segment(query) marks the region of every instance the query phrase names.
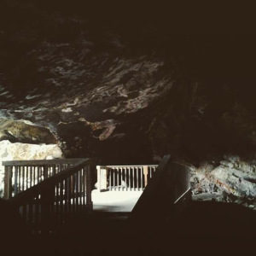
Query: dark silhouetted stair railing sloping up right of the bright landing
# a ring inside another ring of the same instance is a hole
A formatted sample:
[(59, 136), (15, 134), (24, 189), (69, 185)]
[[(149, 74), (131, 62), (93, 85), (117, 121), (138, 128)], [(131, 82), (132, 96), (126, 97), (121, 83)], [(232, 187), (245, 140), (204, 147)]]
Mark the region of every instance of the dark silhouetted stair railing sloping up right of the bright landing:
[(172, 162), (166, 155), (132, 209), (130, 220), (146, 226), (158, 225), (181, 211), (191, 200), (189, 179), (189, 167)]

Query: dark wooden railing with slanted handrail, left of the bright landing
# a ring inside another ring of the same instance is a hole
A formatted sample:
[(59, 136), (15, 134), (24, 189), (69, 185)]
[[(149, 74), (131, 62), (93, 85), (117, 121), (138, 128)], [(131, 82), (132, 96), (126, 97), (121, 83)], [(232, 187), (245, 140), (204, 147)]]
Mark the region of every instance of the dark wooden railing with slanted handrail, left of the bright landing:
[(5, 161), (3, 166), (5, 199), (34, 230), (54, 230), (74, 212), (92, 210), (95, 166), (89, 159)]

